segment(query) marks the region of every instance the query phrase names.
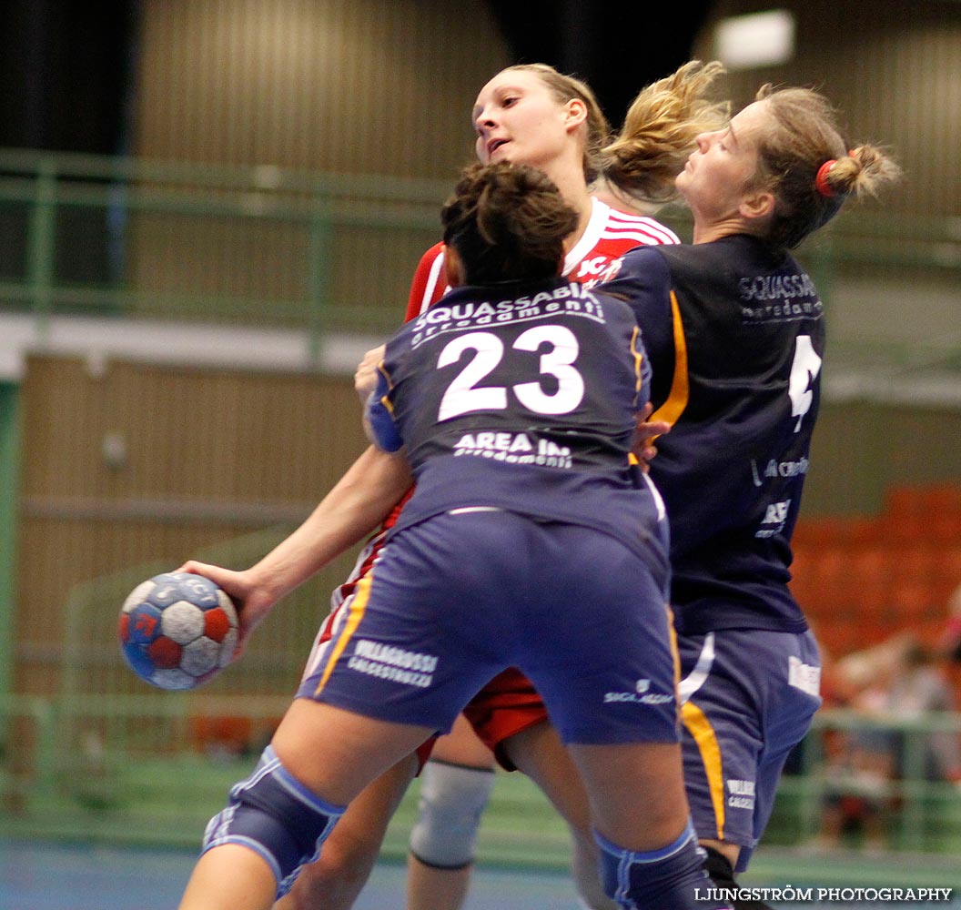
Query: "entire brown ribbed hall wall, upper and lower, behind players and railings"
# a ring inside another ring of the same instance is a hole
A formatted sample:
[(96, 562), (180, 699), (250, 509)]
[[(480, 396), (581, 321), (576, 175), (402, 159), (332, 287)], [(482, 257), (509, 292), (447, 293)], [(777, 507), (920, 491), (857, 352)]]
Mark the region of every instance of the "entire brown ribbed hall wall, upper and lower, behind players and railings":
[[(732, 93), (747, 100), (767, 80), (824, 86), (849, 114), (851, 132), (889, 142), (908, 174), (903, 190), (865, 209), (866, 218), (957, 217), (961, 4), (930, 0), (908, 9), (880, 0), (870, 18), (825, 0), (787, 6), (803, 37), (796, 59), (760, 77), (732, 74)], [(762, 8), (725, 0), (715, 12)], [(509, 61), (479, 2), (458, 4), (451, 15), (443, 0), (145, 0), (140, 30), (132, 151), (255, 168), (265, 187), (288, 168), (450, 180), (472, 153), (470, 102)], [(703, 58), (712, 56), (708, 32), (696, 48)], [(328, 42), (319, 51), (318, 36)], [(426, 60), (430, 67), (421, 65)], [(251, 205), (259, 205), (256, 193)], [(255, 298), (283, 298), (293, 263), (308, 252), (283, 232), (225, 223), (218, 230), (233, 239), (219, 248), (230, 252), (212, 257), (203, 243), (209, 223), (132, 217), (130, 268), (145, 289), (249, 281)], [(331, 263), (334, 294), (358, 305), (373, 297), (399, 314), (421, 248), (361, 230), (345, 239), (350, 257)], [(956, 332), (952, 249), (940, 268), (856, 261), (834, 268), (831, 328), (881, 339), (938, 326)], [(264, 307), (259, 321), (271, 319)], [(832, 341), (825, 377), (844, 366), (841, 355), (830, 359), (837, 350)], [(825, 402), (805, 519), (881, 515), (892, 487), (961, 482), (954, 442), (961, 409), (901, 393), (895, 401), (879, 387)], [(38, 356), (27, 363), (20, 399), (12, 682), (22, 692), (61, 685), (63, 609), (76, 585), (208, 552), (247, 564), (274, 539), (256, 535), (281, 533), (306, 516), (361, 446), (343, 377)], [(348, 557), (323, 573), (289, 620), (286, 612), (272, 618), (261, 633), (248, 665), (274, 674), (275, 691), (287, 691), (349, 564)], [(111, 597), (99, 602), (105, 628), (118, 607)], [(105, 647), (114, 658), (112, 641)], [(235, 680), (227, 674), (216, 684)]]

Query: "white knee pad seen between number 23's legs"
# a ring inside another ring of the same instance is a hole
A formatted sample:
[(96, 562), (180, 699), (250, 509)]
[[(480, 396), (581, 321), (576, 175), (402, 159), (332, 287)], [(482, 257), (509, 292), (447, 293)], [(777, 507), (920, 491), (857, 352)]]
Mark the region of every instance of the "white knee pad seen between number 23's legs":
[(480, 816), (490, 799), (494, 772), (429, 761), (421, 774), (417, 824), (410, 851), (425, 866), (462, 869), (474, 862)]

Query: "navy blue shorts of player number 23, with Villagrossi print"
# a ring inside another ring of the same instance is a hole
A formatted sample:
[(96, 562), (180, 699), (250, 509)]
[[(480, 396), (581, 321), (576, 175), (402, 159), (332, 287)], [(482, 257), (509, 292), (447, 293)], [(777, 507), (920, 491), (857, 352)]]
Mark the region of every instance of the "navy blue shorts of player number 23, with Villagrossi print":
[(297, 694), (446, 731), (519, 667), (564, 742), (678, 742), (665, 604), (645, 561), (600, 531), (456, 509), (388, 541)]

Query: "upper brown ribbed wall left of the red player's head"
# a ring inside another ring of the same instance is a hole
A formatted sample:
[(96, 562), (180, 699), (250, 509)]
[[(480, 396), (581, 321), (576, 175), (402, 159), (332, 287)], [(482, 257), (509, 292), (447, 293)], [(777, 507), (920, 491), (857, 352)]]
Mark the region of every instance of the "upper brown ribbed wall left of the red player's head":
[[(218, 318), (303, 326), (320, 299), (336, 328), (396, 325), (446, 189), (419, 228), (334, 224), (322, 250), (307, 219), (259, 217), (259, 205), (270, 205), (277, 168), (453, 184), (474, 155), (474, 98), (506, 62), (480, 0), (456, 14), (443, 0), (148, 0), (134, 154), (250, 166), (264, 199), (247, 193), (251, 211), (224, 218), (134, 212), (127, 278), (146, 294), (134, 307), (150, 312), (155, 294), (201, 296), (185, 318), (217, 307)], [(303, 194), (280, 199), (306, 209)], [(209, 192), (196, 201), (209, 205)]]

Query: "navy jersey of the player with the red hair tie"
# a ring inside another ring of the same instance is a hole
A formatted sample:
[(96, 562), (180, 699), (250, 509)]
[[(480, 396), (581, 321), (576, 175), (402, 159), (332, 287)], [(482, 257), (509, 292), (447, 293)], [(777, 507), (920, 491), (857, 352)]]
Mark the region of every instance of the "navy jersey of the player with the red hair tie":
[(629, 252), (604, 290), (628, 296), (670, 422), (651, 475), (671, 524), (682, 634), (802, 631), (791, 533), (818, 412), (824, 312), (797, 261), (756, 238)]

